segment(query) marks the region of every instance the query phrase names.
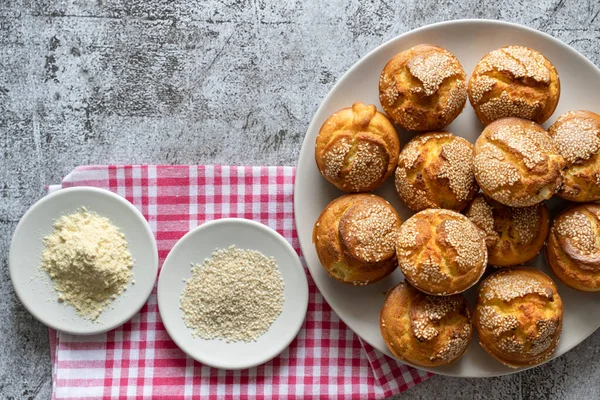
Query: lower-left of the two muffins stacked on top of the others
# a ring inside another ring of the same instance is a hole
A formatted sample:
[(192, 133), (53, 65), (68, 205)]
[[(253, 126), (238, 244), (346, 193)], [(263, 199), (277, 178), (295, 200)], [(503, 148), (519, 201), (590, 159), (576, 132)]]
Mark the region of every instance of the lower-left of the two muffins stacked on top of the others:
[(424, 210), (407, 219), (398, 232), (396, 254), (411, 285), (441, 296), (473, 286), (487, 265), (483, 233), (450, 210)]

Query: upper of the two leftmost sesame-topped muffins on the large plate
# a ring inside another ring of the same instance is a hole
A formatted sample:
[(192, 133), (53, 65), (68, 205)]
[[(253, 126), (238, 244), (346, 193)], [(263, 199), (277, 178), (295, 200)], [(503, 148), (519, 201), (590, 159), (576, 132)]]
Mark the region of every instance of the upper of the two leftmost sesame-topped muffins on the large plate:
[(354, 103), (325, 121), (317, 136), (315, 160), (321, 175), (345, 192), (379, 187), (396, 168), (396, 128), (374, 105)]

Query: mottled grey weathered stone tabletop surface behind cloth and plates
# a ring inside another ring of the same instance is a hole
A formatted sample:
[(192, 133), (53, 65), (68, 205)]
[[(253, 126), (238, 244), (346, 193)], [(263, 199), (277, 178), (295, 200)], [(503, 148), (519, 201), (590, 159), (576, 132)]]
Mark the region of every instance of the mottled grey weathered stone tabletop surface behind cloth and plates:
[[(598, 0), (0, 0), (0, 398), (50, 397), (47, 330), (7, 267), (45, 184), (81, 164), (295, 164), (336, 79), (398, 34), (503, 19), (600, 65), (599, 14)], [(599, 353), (597, 332), (534, 370), (405, 397), (598, 398)]]

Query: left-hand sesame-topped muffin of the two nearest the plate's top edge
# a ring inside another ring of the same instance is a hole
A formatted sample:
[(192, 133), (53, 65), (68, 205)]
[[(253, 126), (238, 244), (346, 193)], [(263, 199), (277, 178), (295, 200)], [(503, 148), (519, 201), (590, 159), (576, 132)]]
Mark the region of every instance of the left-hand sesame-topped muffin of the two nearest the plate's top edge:
[(448, 50), (420, 44), (385, 65), (379, 78), (379, 101), (401, 128), (442, 129), (458, 117), (467, 101), (465, 72)]

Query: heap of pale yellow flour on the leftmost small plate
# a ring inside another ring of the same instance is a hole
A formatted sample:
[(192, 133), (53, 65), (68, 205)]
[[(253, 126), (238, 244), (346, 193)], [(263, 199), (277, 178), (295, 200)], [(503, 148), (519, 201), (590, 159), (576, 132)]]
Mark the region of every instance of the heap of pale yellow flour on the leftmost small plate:
[(44, 246), (40, 268), (50, 275), (58, 301), (84, 318), (96, 320), (132, 281), (125, 235), (85, 208), (59, 218)]

